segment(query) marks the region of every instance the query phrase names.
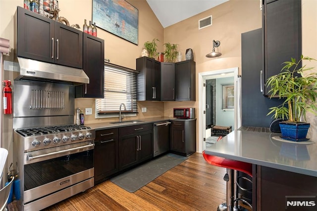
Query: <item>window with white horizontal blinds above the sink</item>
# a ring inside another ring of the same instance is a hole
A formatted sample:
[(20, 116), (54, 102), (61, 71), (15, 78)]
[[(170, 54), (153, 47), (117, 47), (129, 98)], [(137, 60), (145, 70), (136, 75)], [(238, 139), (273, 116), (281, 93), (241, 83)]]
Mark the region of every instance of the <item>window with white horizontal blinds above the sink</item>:
[[(96, 99), (98, 115), (117, 114), (124, 103), (122, 113), (137, 113), (137, 71), (105, 63), (105, 98)], [(112, 115), (113, 116), (113, 115)]]

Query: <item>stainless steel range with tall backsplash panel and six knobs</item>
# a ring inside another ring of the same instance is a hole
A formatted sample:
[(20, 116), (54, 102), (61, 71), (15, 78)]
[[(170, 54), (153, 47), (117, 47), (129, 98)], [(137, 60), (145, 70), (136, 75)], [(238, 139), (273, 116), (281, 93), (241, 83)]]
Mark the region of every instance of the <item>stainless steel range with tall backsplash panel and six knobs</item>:
[(42, 210), (94, 186), (95, 130), (74, 122), (74, 87), (14, 81), (21, 208)]

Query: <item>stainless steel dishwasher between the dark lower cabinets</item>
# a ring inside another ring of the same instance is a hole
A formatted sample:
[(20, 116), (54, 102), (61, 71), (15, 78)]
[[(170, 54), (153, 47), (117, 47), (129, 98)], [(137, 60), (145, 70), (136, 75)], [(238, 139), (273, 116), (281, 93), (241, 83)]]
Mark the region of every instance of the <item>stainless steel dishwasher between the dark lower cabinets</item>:
[(154, 123), (154, 144), (153, 152), (156, 157), (169, 151), (169, 121)]

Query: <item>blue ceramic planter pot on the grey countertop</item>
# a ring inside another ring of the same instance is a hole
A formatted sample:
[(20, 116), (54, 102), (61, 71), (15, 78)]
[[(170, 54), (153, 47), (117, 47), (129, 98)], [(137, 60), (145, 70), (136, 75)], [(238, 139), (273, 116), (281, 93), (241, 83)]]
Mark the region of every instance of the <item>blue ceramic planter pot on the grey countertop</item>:
[(310, 123), (306, 122), (287, 122), (282, 121), (279, 123), (282, 133), (282, 139), (289, 140), (289, 141), (307, 141), (306, 138), (307, 132), (309, 127), (311, 126)]

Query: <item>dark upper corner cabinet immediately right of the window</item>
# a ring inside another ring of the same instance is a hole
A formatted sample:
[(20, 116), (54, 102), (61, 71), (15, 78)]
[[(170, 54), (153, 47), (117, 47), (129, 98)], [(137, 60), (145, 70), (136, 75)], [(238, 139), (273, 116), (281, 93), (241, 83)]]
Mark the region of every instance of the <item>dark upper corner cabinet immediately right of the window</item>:
[(160, 101), (160, 62), (143, 56), (136, 59), (138, 101)]

